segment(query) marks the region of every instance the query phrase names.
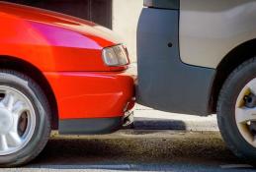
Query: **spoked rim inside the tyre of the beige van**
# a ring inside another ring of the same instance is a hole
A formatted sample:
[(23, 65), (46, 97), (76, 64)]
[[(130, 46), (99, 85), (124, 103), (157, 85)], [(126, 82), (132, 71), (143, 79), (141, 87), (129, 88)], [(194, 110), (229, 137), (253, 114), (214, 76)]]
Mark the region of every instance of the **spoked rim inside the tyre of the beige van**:
[[(244, 140), (256, 147), (256, 105), (247, 105), (256, 95), (256, 79), (250, 81), (239, 93), (235, 104), (235, 121)], [(249, 99), (250, 98), (250, 99)]]

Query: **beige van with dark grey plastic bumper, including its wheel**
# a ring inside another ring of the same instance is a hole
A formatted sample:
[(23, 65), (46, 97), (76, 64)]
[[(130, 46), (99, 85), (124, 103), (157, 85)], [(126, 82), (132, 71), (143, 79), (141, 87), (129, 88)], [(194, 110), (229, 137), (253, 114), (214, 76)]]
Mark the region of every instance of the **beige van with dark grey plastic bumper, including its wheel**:
[(256, 1), (144, 0), (137, 29), (137, 101), (217, 114), (223, 140), (256, 159)]

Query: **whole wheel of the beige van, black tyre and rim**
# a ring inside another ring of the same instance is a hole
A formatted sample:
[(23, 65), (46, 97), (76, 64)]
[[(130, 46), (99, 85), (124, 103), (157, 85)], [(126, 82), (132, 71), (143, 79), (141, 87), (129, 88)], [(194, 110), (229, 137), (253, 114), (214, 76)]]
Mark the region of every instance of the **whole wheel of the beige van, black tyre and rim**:
[(253, 91), (247, 86), (255, 86), (253, 85), (255, 78), (256, 59), (252, 58), (229, 75), (220, 90), (216, 109), (217, 123), (224, 142), (236, 156), (253, 165), (256, 160), (256, 146), (249, 139), (256, 134), (252, 130), (255, 129), (256, 124), (253, 121), (246, 121), (247, 113), (243, 112), (245, 112), (244, 109), (253, 108), (256, 105), (254, 103), (251, 106), (247, 100)]

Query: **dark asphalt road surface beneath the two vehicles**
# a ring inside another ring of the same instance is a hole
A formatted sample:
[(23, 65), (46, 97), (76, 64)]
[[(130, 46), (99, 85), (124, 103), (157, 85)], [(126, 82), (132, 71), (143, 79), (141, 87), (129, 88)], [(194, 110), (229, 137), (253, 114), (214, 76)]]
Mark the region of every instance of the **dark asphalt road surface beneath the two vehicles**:
[(54, 136), (29, 165), (0, 172), (255, 171), (217, 132), (122, 131), (91, 137)]

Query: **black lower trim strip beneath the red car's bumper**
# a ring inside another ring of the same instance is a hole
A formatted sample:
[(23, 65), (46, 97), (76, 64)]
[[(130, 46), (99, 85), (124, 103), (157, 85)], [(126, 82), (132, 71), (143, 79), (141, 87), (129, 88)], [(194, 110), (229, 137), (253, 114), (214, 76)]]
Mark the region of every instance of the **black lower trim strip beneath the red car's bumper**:
[(89, 118), (59, 120), (61, 135), (101, 135), (110, 134), (123, 125), (123, 118)]

